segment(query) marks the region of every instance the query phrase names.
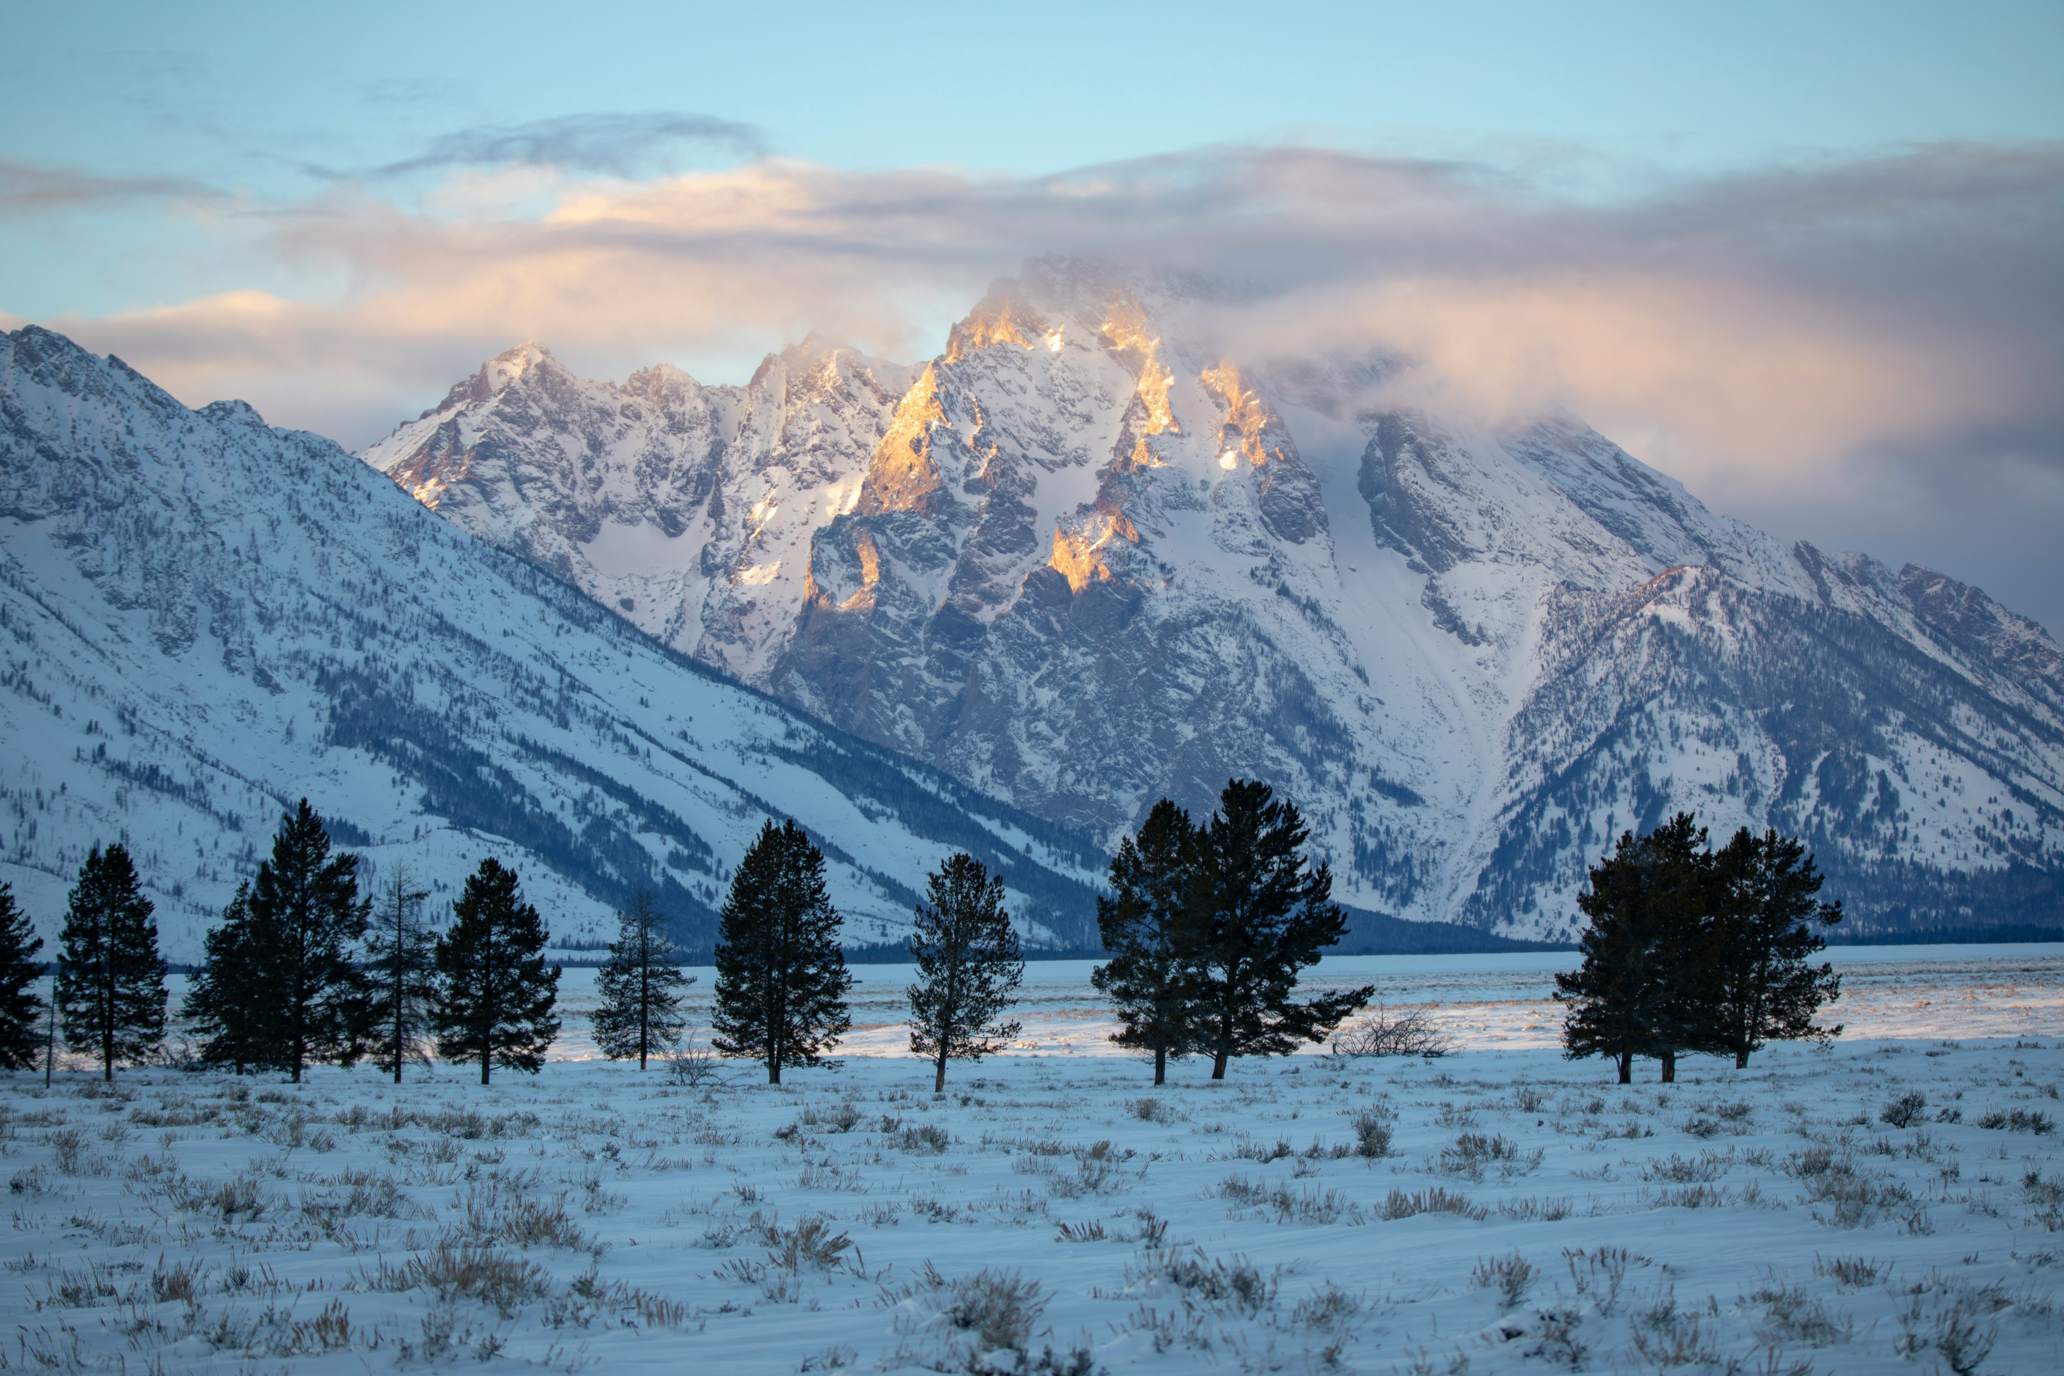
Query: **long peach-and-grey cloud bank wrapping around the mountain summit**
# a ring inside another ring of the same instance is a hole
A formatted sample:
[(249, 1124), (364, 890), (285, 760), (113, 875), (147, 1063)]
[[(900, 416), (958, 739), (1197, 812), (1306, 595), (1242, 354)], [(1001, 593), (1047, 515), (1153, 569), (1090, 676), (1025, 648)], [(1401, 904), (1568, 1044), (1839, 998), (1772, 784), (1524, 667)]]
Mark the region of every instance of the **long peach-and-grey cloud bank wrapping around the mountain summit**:
[[(2064, 474), (2058, 144), (1915, 146), (1606, 200), (1488, 163), (1298, 146), (1049, 177), (760, 157), (632, 179), (640, 138), (691, 134), (623, 120), (456, 134), (413, 163), (450, 169), (417, 206), (361, 182), (221, 219), (256, 235), (275, 281), (345, 289), (47, 324), (182, 398), (241, 392), (363, 444), (522, 338), (607, 375), (757, 357), (807, 330), (925, 357), (993, 276), (1061, 252), (1222, 283), (1191, 324), (1247, 357), (1383, 349), (1443, 406), (1567, 406), (1779, 526), (1787, 493), (1839, 516), (1841, 491), (1878, 483), (1874, 528), (1897, 545), (1930, 493), (2052, 501)], [(615, 177), (576, 175), (592, 171)], [(1977, 470), (1992, 477), (1963, 481)], [(1905, 493), (1907, 526), (1884, 493)]]

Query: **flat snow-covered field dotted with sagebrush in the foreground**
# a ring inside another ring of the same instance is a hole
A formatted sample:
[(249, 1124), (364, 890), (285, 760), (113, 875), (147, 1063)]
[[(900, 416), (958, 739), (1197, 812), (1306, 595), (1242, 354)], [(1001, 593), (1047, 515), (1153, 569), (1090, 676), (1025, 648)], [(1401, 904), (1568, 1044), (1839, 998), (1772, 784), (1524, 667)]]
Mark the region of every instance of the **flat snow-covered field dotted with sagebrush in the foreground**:
[[(894, 968), (859, 972), (863, 1054), (780, 1087), (677, 1085), (580, 1058), (584, 1036), (487, 1089), (462, 1067), (14, 1075), (0, 1359), (2064, 1368), (2064, 951), (1835, 957), (1839, 1044), (1695, 1058), (1678, 1085), (1556, 1054), (1554, 953), (1327, 961), (1439, 1001), (1459, 1050), (1222, 1085), (1187, 1062), (1152, 1089), (1065, 965), (1028, 972), (1030, 1046), (956, 1064), (939, 1100), (894, 1054)], [(590, 984), (568, 972), (568, 1007)]]

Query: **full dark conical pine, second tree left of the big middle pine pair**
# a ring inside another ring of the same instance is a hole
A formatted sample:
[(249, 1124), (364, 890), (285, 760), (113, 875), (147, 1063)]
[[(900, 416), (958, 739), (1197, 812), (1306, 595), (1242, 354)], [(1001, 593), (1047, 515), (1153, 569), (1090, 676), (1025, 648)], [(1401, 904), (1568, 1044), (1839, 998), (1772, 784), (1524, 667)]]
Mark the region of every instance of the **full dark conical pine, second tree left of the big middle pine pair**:
[(852, 1027), (848, 988), (824, 854), (793, 819), (768, 821), (718, 914), (710, 1044), (764, 1062), (768, 1083), (778, 1085), (784, 1064), (817, 1064)]

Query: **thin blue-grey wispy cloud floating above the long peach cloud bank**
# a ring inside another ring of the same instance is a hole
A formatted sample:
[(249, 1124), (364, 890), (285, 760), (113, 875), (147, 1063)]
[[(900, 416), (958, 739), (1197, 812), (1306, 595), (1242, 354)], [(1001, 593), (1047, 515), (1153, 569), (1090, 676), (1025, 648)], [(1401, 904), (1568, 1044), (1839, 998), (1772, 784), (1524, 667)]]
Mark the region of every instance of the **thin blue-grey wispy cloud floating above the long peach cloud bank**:
[(452, 167), (555, 167), (574, 173), (636, 177), (665, 165), (683, 144), (735, 157), (760, 157), (766, 140), (749, 124), (665, 109), (578, 113), (510, 126), (477, 126), (440, 136), (423, 153), (376, 169), (376, 177)]

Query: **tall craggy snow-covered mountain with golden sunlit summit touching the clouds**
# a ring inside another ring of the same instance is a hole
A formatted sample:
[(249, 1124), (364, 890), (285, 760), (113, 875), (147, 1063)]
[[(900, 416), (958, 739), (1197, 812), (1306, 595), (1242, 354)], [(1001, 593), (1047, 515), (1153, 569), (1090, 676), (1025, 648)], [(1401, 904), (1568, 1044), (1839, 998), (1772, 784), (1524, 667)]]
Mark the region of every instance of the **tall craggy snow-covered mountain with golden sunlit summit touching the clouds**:
[(1069, 827), (1228, 776), (1344, 902), (1558, 935), (1622, 827), (1812, 840), (1872, 924), (2058, 918), (2064, 658), (1940, 574), (1783, 547), (1571, 417), (1240, 361), (1191, 285), (1028, 264), (904, 369), (489, 361), (363, 458), (654, 637)]

